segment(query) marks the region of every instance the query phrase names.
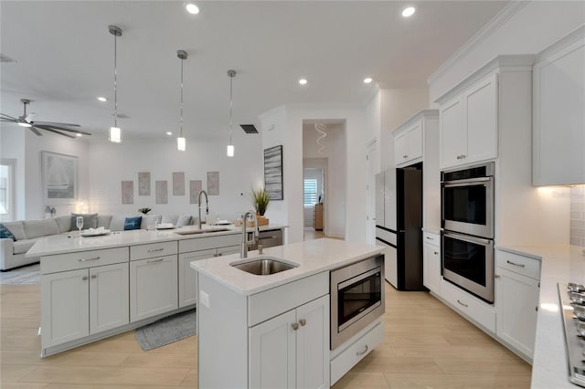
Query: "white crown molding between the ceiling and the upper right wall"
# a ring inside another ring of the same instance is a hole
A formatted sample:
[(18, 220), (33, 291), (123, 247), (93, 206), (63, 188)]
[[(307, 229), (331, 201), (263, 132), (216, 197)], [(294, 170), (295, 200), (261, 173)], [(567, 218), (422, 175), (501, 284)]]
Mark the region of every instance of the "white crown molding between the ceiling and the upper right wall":
[(496, 16), (487, 24), (485, 24), (478, 32), (476, 32), (473, 37), (471, 37), (462, 47), (459, 47), (457, 51), (453, 53), (450, 58), (447, 58), (443, 64), (437, 68), (431, 76), (427, 78), (427, 85), (431, 85), (435, 79), (441, 77), (443, 73), (449, 68), (452, 67), (453, 63), (455, 63), (459, 58), (462, 58), (465, 54), (479, 45), (486, 37), (491, 36), (498, 28), (503, 26), (505, 22), (507, 22), (512, 16), (516, 15), (518, 11), (524, 8), (531, 0), (522, 0), (522, 1), (511, 1), (504, 8), (498, 12)]

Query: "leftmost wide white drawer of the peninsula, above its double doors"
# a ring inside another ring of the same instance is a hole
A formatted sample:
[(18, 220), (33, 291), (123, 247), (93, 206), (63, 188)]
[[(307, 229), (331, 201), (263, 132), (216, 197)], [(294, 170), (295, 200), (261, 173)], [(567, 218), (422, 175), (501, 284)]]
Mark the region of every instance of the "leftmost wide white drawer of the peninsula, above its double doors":
[(41, 257), (40, 271), (41, 274), (49, 274), (77, 268), (112, 265), (126, 261), (128, 261), (128, 247), (104, 248)]

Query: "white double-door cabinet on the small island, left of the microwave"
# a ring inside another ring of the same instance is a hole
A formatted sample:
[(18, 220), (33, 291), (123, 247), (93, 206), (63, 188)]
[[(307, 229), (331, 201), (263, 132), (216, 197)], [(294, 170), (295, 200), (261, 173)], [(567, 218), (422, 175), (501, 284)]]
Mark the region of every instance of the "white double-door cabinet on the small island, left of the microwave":
[(250, 328), (250, 387), (329, 387), (329, 296)]

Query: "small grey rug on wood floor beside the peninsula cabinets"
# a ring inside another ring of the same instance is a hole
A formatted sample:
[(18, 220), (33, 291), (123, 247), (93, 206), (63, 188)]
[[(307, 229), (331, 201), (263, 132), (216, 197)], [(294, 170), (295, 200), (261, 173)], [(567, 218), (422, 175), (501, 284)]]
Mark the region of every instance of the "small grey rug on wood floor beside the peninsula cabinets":
[(145, 352), (197, 333), (196, 312), (186, 310), (136, 329), (136, 341)]

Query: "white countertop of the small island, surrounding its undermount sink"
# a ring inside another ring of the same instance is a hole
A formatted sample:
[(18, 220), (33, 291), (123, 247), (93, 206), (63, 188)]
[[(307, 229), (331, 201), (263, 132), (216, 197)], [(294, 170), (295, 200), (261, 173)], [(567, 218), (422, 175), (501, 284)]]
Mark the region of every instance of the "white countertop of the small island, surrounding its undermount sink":
[(246, 259), (239, 258), (239, 254), (234, 254), (226, 257), (193, 261), (191, 262), (191, 268), (195, 268), (239, 294), (248, 296), (322, 271), (342, 268), (359, 259), (374, 257), (383, 253), (384, 247), (382, 246), (322, 238), (265, 248), (262, 256), (275, 257), (283, 259), (285, 262), (293, 262), (299, 265), (298, 268), (292, 268), (270, 276), (257, 276), (229, 265), (232, 262), (253, 260), (259, 257), (258, 251), (250, 251)]

